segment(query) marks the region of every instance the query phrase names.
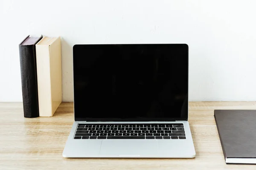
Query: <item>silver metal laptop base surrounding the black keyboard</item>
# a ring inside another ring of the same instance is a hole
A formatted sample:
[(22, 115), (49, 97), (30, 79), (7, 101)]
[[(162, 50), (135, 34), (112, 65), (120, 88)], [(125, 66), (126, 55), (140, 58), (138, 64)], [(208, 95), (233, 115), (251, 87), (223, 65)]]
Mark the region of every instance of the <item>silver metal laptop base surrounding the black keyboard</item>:
[[(186, 139), (73, 139), (79, 123), (93, 124), (167, 124), (183, 123)], [(74, 122), (63, 157), (68, 158), (194, 158), (189, 123), (176, 122)]]

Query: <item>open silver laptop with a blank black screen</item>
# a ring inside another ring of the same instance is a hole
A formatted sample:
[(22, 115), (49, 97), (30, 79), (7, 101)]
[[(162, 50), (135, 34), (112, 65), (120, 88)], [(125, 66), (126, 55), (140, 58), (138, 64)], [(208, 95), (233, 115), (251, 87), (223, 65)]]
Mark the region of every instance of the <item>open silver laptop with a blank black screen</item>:
[(63, 157), (194, 158), (188, 45), (74, 45), (74, 118)]

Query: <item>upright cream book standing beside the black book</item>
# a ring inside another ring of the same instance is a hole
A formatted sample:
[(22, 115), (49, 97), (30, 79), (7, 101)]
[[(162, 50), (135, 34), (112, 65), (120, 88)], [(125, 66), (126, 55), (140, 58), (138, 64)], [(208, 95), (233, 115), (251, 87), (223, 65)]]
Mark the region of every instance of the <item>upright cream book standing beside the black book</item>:
[(53, 116), (62, 101), (61, 39), (43, 37), (36, 45), (39, 116)]

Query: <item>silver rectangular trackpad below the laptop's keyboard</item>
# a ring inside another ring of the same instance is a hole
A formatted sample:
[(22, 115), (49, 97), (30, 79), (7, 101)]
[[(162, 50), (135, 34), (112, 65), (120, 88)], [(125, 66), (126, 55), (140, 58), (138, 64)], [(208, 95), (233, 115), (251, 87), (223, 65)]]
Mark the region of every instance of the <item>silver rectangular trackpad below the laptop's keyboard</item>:
[(157, 155), (157, 140), (103, 140), (100, 155), (148, 156)]

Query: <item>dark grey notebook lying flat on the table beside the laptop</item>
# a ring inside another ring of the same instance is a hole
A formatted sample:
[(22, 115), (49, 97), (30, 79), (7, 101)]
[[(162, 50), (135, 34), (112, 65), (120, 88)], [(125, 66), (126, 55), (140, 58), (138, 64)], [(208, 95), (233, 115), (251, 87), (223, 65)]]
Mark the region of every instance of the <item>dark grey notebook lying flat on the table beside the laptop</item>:
[(256, 110), (215, 110), (227, 164), (256, 164)]

